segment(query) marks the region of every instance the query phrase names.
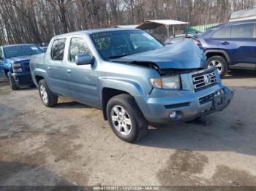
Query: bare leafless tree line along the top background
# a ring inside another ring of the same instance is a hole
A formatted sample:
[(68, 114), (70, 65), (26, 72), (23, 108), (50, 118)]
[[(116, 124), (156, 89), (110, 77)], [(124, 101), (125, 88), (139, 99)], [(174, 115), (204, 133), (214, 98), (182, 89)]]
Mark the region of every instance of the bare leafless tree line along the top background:
[(49, 42), (90, 28), (140, 24), (148, 19), (222, 23), (255, 0), (0, 0), (0, 44)]

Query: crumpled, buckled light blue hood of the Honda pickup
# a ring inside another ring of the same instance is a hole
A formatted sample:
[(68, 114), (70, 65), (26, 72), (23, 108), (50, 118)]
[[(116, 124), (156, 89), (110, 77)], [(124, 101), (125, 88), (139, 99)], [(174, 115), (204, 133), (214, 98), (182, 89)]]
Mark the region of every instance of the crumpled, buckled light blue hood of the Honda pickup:
[(159, 69), (206, 68), (206, 56), (191, 40), (170, 44), (157, 50), (127, 55), (112, 61), (121, 63), (155, 63)]

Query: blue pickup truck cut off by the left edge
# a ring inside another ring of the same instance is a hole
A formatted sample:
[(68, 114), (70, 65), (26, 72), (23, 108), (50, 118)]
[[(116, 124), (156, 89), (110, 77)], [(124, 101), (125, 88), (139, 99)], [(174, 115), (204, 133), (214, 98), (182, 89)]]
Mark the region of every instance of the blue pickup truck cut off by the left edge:
[(14, 44), (0, 47), (0, 77), (8, 79), (12, 90), (34, 85), (29, 61), (31, 55), (42, 53), (34, 44)]

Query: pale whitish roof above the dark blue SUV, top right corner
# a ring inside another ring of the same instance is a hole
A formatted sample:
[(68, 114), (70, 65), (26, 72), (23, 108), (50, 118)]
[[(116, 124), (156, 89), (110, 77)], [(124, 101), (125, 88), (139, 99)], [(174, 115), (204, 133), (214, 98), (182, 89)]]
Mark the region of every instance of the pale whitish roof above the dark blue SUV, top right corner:
[(256, 9), (241, 10), (233, 12), (230, 15), (229, 22), (238, 21), (238, 20), (252, 20), (256, 19)]

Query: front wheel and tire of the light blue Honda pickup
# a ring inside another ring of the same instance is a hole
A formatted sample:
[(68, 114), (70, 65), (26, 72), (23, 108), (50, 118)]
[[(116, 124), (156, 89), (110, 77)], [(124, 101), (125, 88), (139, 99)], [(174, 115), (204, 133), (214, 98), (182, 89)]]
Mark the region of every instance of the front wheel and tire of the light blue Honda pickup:
[[(119, 114), (116, 109), (118, 109)], [(120, 116), (122, 111), (124, 111), (123, 119)], [(107, 116), (113, 132), (123, 141), (129, 143), (138, 141), (148, 132), (148, 122), (131, 95), (120, 94), (110, 98), (107, 104)], [(118, 116), (120, 117), (118, 118)], [(123, 125), (123, 127), (118, 130), (118, 125)], [(129, 133), (125, 129), (128, 129)]]

